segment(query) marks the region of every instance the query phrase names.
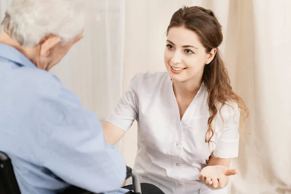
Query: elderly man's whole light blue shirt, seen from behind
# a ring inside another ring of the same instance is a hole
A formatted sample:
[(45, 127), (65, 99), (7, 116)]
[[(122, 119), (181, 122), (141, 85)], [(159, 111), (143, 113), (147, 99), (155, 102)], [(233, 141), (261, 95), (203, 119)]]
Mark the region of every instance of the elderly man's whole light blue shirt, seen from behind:
[(69, 184), (101, 193), (119, 188), (126, 168), (105, 143), (98, 119), (74, 93), (16, 49), (0, 44), (0, 150), (23, 194)]

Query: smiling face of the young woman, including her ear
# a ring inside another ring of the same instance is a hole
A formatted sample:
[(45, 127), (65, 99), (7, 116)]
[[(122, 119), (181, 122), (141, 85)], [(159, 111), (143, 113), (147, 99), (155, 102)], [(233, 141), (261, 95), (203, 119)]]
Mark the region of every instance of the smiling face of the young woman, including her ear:
[(215, 52), (212, 49), (207, 53), (195, 32), (173, 27), (167, 34), (164, 63), (172, 81), (201, 81), (204, 65), (211, 62)]

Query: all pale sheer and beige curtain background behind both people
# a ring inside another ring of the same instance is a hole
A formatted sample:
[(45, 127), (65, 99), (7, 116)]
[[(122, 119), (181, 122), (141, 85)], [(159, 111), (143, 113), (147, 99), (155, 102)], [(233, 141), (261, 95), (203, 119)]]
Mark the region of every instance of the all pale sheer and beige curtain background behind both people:
[[(165, 32), (183, 5), (212, 9), (231, 84), (246, 102), (229, 194), (291, 194), (291, 0), (92, 0), (84, 38), (52, 69), (103, 122), (138, 71), (165, 71)], [(0, 0), (0, 19), (6, 0)], [(134, 123), (116, 145), (129, 166)]]

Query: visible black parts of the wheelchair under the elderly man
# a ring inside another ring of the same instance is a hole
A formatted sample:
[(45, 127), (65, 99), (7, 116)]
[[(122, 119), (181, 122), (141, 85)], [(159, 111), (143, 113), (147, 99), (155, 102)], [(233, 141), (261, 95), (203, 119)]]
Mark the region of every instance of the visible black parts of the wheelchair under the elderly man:
[[(142, 194), (141, 184), (138, 174), (128, 166), (126, 179), (132, 177), (133, 192), (129, 191), (126, 194)], [(14, 174), (13, 166), (9, 157), (0, 151), (0, 194), (21, 194), (16, 177)], [(90, 191), (70, 186), (65, 191), (59, 194), (92, 194)]]

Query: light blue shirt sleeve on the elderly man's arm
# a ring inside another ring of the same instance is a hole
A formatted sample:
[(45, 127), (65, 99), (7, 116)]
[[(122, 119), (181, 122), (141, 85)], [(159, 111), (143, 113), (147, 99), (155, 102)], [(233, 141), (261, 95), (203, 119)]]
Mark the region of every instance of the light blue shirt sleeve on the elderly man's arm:
[(126, 164), (118, 149), (105, 142), (96, 115), (82, 108), (63, 85), (50, 86), (46, 93), (36, 94), (35, 102), (37, 138), (44, 141), (42, 165), (65, 182), (94, 193), (120, 188)]

